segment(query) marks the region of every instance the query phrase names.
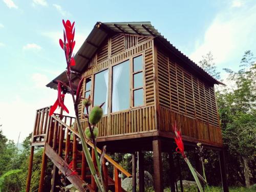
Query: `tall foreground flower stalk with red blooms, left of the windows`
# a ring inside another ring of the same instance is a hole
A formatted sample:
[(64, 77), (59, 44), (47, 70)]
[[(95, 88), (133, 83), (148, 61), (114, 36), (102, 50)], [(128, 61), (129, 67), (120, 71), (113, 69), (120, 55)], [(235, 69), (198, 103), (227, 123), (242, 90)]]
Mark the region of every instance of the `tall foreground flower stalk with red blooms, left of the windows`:
[[(91, 123), (89, 122), (88, 106), (86, 108), (87, 113), (88, 113), (88, 116), (87, 116), (88, 117), (88, 124), (89, 124), (89, 128), (90, 128), (90, 133), (92, 135), (92, 142), (93, 142), (93, 145), (94, 145), (95, 159), (96, 159), (96, 162), (97, 162), (97, 169), (98, 169), (98, 172), (99, 172), (99, 175), (100, 175), (100, 179), (97, 175), (97, 170), (94, 166), (91, 154), (89, 152), (88, 145), (87, 145), (87, 142), (86, 142), (86, 136), (83, 133), (81, 123), (80, 123), (80, 120), (79, 120), (79, 115), (78, 115), (78, 104), (81, 101), (81, 87), (82, 87), (84, 78), (80, 79), (80, 82), (79, 82), (77, 90), (76, 90), (76, 95), (75, 95), (75, 91), (73, 89), (73, 83), (72, 83), (72, 80), (71, 80), (71, 74), (72, 74), (71, 66), (75, 66), (75, 59), (74, 59), (74, 54), (73, 54), (73, 49), (74, 49), (74, 46), (75, 46), (75, 41), (74, 41), (75, 29), (73, 30), (73, 28), (74, 28), (75, 23), (71, 24), (70, 20), (67, 20), (66, 22), (64, 20), (62, 20), (62, 23), (63, 23), (63, 26), (65, 27), (65, 30), (63, 31), (63, 40), (59, 39), (59, 45), (60, 45), (61, 49), (65, 52), (65, 57), (66, 57), (66, 62), (67, 62), (67, 71), (66, 71), (66, 73), (67, 73), (67, 78), (68, 78), (68, 86), (65, 83), (61, 82), (61, 81), (58, 82), (58, 97), (57, 97), (56, 102), (52, 106), (49, 115), (51, 116), (54, 113), (57, 106), (60, 106), (63, 110), (65, 110), (66, 112), (69, 112), (68, 109), (66, 108), (66, 106), (63, 103), (65, 95), (61, 94), (61, 88), (63, 86), (68, 87), (69, 90), (70, 90), (72, 99), (73, 99), (73, 103), (74, 103), (76, 124), (77, 124), (77, 127), (78, 127), (78, 133), (79, 133), (79, 136), (80, 136), (80, 139), (81, 139), (83, 153), (86, 156), (88, 166), (90, 168), (92, 176), (94, 177), (94, 180), (95, 180), (95, 183), (98, 187), (98, 190), (100, 192), (105, 192), (106, 187), (103, 183), (104, 178), (103, 178), (103, 174), (101, 172), (101, 165), (100, 165), (98, 152), (97, 152), (97, 143), (96, 143), (96, 139), (95, 139), (94, 134), (93, 134), (94, 125), (92, 126)], [(102, 105), (103, 104), (104, 103), (102, 103)], [(104, 153), (102, 155), (104, 156)], [(101, 157), (101, 158), (103, 158), (103, 157)]]

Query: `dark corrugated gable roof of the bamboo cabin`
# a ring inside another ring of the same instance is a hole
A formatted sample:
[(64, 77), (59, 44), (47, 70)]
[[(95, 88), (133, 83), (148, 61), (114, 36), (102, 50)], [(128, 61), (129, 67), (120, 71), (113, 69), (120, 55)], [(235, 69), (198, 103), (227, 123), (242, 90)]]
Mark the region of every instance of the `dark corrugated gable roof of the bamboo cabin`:
[[(193, 69), (198, 75), (202, 76), (203, 79), (206, 79), (212, 84), (223, 84), (214, 77), (210, 76), (202, 68), (200, 68), (194, 61), (190, 60), (186, 55), (181, 53), (176, 47), (174, 47), (170, 42), (164, 38), (164, 36), (159, 33), (150, 22), (118, 22), (118, 23), (101, 23), (97, 22), (88, 35), (87, 39), (84, 40), (82, 46), (75, 54), (76, 66), (72, 66), (72, 71), (75, 73), (72, 74), (72, 80), (75, 87), (78, 84), (79, 78), (77, 78), (81, 73), (84, 72), (91, 58), (97, 52), (98, 48), (108, 36), (123, 33), (123, 34), (134, 34), (154, 37), (154, 40), (157, 43), (161, 44), (172, 54), (182, 59), (186, 63), (187, 67)], [(62, 72), (59, 76), (53, 79), (47, 84), (47, 87), (56, 89), (57, 81), (68, 82), (66, 71)]]

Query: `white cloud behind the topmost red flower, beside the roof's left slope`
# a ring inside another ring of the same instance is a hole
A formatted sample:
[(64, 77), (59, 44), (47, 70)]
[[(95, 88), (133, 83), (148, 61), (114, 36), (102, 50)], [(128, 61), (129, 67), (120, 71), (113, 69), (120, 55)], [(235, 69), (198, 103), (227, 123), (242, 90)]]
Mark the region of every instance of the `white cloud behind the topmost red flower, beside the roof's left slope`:
[[(77, 29), (76, 29), (75, 38), (74, 38), (76, 41), (76, 45), (74, 48), (74, 53), (76, 53), (79, 50), (79, 48), (82, 46), (88, 34), (89, 34), (89, 31), (81, 33), (81, 32), (77, 32)], [(61, 31), (43, 32), (42, 35), (50, 38), (54, 42), (54, 44), (57, 45), (58, 47), (59, 47), (59, 39), (60, 38), (63, 39), (63, 32)]]

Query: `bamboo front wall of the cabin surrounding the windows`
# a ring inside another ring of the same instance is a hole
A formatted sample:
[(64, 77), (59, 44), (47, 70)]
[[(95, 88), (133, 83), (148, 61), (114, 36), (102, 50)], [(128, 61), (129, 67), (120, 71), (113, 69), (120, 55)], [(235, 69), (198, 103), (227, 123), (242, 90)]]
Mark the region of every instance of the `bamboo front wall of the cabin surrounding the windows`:
[[(88, 68), (82, 76), (93, 77), (94, 74), (104, 69), (111, 71), (112, 66), (116, 63), (125, 61), (138, 54), (144, 56), (144, 106), (104, 115), (96, 125), (99, 128), (99, 137), (156, 130), (152, 38), (118, 34), (106, 39), (91, 59)], [(111, 102), (111, 99), (109, 101)], [(108, 108), (110, 108), (110, 102)], [(87, 120), (82, 117), (82, 112), (83, 107), (80, 103), (79, 116), (82, 126), (86, 127)]]

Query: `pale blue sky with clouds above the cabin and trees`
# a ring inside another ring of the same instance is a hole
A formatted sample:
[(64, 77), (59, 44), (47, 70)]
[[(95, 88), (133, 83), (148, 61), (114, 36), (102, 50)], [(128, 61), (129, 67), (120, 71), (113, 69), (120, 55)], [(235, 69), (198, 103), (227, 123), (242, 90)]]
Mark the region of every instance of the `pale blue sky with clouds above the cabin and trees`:
[(238, 69), (245, 50), (256, 54), (253, 0), (0, 0), (0, 124), (15, 142), (19, 132), (23, 140), (32, 131), (35, 110), (56, 99), (45, 84), (66, 67), (58, 45), (62, 18), (76, 22), (75, 51), (97, 21), (150, 21), (196, 62), (211, 51), (219, 70)]

